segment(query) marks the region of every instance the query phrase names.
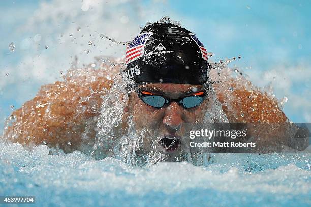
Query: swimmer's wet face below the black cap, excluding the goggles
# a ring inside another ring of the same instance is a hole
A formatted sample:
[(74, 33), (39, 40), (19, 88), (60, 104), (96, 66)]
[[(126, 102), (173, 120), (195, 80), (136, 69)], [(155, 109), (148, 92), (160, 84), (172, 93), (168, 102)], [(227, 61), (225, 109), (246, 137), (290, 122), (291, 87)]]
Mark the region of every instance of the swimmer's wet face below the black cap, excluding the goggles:
[[(139, 91), (168, 99), (179, 99), (197, 95), (203, 92), (204, 88), (202, 85), (154, 83), (139, 86)], [(205, 98), (198, 106), (184, 108), (182, 104), (172, 101), (162, 108), (155, 108), (144, 103), (137, 92), (132, 92), (127, 110), (133, 115), (136, 131), (143, 132), (144, 150), (162, 152), (168, 156), (167, 160), (176, 160), (176, 157), (189, 148), (189, 137), (185, 137), (186, 130), (183, 124), (201, 123), (207, 103), (208, 98)], [(156, 146), (151, 146), (152, 142), (157, 143)]]

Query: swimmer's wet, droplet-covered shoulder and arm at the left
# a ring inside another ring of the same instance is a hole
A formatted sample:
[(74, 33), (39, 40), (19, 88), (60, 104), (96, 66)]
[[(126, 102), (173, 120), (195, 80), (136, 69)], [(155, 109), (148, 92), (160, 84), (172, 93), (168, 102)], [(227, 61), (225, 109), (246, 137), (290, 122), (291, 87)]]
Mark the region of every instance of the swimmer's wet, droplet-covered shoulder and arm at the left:
[(92, 145), (106, 78), (83, 84), (55, 82), (42, 86), (39, 93), (14, 111), (2, 139), (24, 146), (46, 144), (65, 152)]

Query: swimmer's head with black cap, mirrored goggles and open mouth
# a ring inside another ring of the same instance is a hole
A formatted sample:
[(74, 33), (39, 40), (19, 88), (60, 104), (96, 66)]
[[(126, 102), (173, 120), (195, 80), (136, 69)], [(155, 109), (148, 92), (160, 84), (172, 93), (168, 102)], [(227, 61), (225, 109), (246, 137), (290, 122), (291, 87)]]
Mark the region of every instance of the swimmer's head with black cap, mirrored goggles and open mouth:
[(182, 125), (203, 122), (209, 102), (207, 58), (195, 34), (168, 23), (145, 27), (128, 46), (123, 73), (134, 86), (125, 111), (133, 116), (135, 130), (145, 132), (145, 151), (175, 158), (185, 145)]

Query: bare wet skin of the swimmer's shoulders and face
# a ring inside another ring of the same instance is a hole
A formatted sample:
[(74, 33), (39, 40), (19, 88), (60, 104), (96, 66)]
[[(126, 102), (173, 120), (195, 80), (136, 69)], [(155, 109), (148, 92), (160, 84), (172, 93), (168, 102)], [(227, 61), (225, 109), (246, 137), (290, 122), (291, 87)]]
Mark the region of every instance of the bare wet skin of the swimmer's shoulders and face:
[[(6, 126), (4, 134), (0, 135), (0, 139), (5, 142), (20, 143), (27, 149), (46, 143), (49, 147), (60, 147), (66, 153), (80, 150), (87, 154), (89, 147), (94, 145), (94, 139), (98, 133), (97, 119), (101, 111), (102, 97), (105, 95), (104, 88), (109, 90), (113, 82), (102, 77), (98, 70), (90, 70), (86, 74), (87, 76), (69, 78), (63, 82), (57, 81), (41, 87), (33, 99), (25, 102), (20, 109), (13, 111), (10, 117), (14, 117), (14, 119), (8, 119), (10, 123)], [(218, 77), (216, 71), (211, 75)], [(215, 77), (211, 77), (211, 80), (216, 80)], [(258, 123), (260, 120), (261, 123), (284, 123), (287, 121), (286, 115), (281, 108), (277, 107), (277, 100), (257, 90), (246, 79), (242, 79), (242, 82), (248, 82), (245, 85), (240, 84), (241, 79), (234, 79), (226, 73), (222, 74), (222, 77), (225, 81), (214, 83), (213, 88), (229, 122)], [(182, 88), (182, 85), (176, 84), (174, 87), (172, 84), (152, 85), (155, 88), (171, 92), (187, 89), (185, 86)], [(230, 87), (234, 90), (226, 89)], [(251, 88), (253, 89), (250, 90)], [(176, 98), (179, 95), (168, 96)], [(82, 97), (91, 98), (80, 103)], [(178, 122), (201, 120), (203, 114), (209, 112), (207, 110), (212, 109), (213, 103), (215, 103), (210, 99), (207, 101), (206, 107), (202, 103), (197, 108), (183, 109), (178, 104), (171, 103), (167, 108), (155, 109), (144, 104), (136, 93), (132, 93), (130, 99), (128, 107), (125, 108), (125, 111), (128, 112), (122, 117), (123, 122), (117, 127), (119, 129), (117, 133), (120, 133), (117, 134), (117, 137), (122, 137), (127, 128), (126, 115), (133, 114), (137, 129), (154, 128), (155, 130), (159, 129), (158, 134), (161, 134), (160, 130), (162, 130), (162, 134), (169, 134), (170, 131), (176, 131), (172, 126), (178, 126)], [(38, 107), (38, 103), (41, 103), (42, 106)], [(207, 107), (208, 109), (206, 109)], [(81, 108), (84, 109), (81, 111)], [(206, 111), (203, 112), (202, 109)], [(176, 113), (177, 115), (172, 115)], [(240, 116), (242, 113), (244, 117)], [(187, 114), (188, 116), (183, 117)], [(163, 123), (168, 124), (167, 127)], [(181, 130), (178, 130), (178, 133), (181, 134)], [(271, 133), (266, 135), (266, 130), (263, 130), (262, 133), (260, 137), (271, 137)], [(155, 138), (158, 134), (155, 133)], [(148, 140), (150, 137), (147, 137)], [(181, 145), (186, 145), (186, 143), (182, 141)]]

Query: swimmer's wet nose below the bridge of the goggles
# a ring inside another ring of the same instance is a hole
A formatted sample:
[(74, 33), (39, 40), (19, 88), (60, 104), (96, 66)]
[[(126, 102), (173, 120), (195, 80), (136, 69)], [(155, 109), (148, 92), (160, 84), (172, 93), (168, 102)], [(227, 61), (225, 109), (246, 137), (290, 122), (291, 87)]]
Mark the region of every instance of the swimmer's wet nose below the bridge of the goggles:
[(182, 118), (183, 108), (175, 102), (172, 102), (165, 109), (165, 115), (163, 117), (163, 124), (173, 128), (178, 129), (179, 126), (184, 123)]

